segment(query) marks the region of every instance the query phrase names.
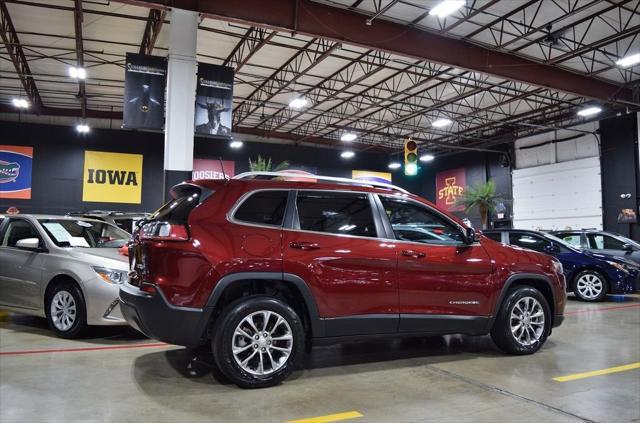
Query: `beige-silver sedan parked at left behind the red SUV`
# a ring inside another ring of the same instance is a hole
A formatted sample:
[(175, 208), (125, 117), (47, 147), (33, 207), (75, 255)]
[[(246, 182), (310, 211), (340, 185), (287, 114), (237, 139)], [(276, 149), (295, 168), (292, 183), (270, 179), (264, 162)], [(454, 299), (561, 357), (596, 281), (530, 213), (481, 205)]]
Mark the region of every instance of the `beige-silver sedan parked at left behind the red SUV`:
[(124, 325), (118, 285), (129, 234), (85, 218), (4, 216), (0, 221), (0, 308), (46, 317), (63, 338), (87, 325)]

